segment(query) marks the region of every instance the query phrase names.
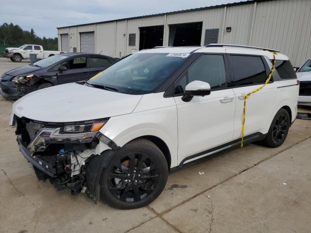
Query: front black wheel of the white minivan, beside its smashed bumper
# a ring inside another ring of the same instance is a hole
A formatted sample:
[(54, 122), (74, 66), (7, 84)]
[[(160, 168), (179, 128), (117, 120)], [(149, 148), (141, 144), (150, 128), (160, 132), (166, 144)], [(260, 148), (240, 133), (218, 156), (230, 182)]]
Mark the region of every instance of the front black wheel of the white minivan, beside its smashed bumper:
[(118, 150), (102, 171), (100, 198), (118, 209), (140, 208), (162, 193), (167, 176), (162, 151), (149, 140), (134, 140)]

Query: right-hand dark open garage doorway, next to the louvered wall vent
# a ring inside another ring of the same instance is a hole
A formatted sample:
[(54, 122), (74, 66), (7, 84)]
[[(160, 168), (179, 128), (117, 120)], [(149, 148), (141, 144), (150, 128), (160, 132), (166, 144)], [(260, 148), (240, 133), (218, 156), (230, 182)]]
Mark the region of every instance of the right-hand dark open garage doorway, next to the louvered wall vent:
[(169, 46), (201, 45), (202, 22), (170, 25)]

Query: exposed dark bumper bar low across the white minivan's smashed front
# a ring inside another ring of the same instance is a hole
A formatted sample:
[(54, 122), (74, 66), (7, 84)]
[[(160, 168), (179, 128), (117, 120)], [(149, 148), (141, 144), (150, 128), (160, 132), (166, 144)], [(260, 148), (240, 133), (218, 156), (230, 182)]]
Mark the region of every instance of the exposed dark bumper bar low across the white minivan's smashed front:
[(22, 153), (22, 155), (27, 159), (29, 163), (31, 163), (33, 166), (35, 166), (40, 171), (44, 172), (48, 176), (55, 178), (56, 177), (56, 170), (50, 166), (50, 164), (47, 164), (46, 162), (38, 159), (37, 156), (33, 156), (32, 152), (28, 150), (26, 147), (24, 147), (23, 139), (21, 138), (21, 135), (17, 136), (17, 142), (19, 146), (19, 150)]

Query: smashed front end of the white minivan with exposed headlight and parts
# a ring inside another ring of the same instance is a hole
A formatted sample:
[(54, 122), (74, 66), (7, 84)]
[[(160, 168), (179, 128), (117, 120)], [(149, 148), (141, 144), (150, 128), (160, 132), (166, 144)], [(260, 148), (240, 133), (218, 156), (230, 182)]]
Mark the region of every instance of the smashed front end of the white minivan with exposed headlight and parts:
[(38, 180), (50, 180), (56, 190), (69, 189), (76, 195), (87, 189), (90, 159), (111, 149), (100, 141), (99, 130), (107, 120), (49, 123), (14, 116), (13, 125), (19, 150), (34, 166)]

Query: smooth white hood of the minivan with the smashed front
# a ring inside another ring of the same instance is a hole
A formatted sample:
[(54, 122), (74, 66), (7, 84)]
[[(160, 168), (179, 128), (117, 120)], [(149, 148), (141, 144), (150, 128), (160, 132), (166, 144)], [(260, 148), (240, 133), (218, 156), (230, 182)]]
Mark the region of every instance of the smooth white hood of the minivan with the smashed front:
[(45, 122), (85, 121), (129, 114), (141, 97), (68, 83), (22, 97), (13, 104), (13, 112)]

